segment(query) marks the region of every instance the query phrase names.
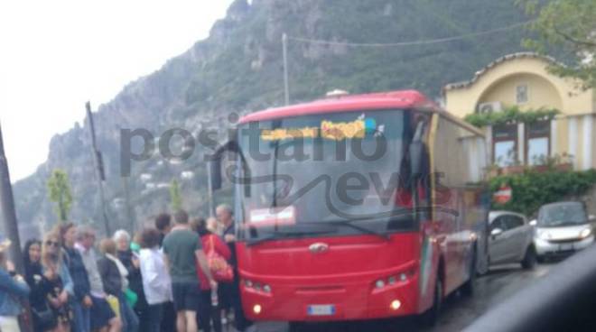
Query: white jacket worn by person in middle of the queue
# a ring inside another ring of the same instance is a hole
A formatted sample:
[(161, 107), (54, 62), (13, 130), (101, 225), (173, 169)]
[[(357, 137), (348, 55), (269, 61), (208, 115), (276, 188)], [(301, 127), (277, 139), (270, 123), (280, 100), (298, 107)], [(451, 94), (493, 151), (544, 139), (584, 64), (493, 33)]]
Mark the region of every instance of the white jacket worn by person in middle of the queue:
[(147, 303), (158, 304), (172, 300), (172, 280), (163, 261), (163, 253), (157, 247), (141, 249), (139, 261)]

